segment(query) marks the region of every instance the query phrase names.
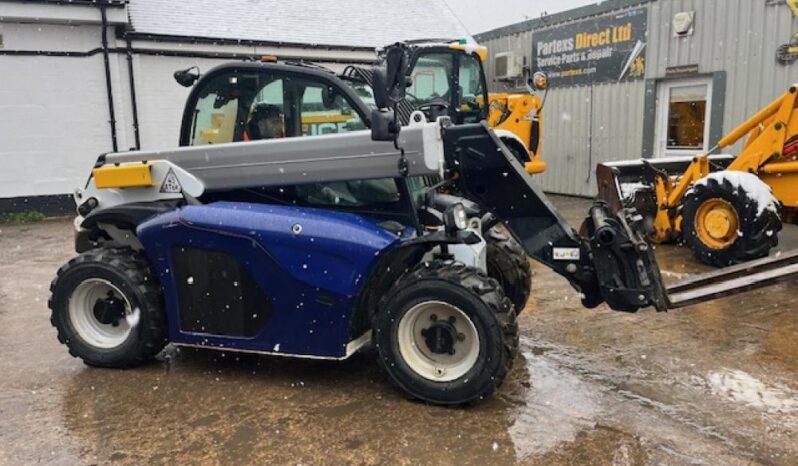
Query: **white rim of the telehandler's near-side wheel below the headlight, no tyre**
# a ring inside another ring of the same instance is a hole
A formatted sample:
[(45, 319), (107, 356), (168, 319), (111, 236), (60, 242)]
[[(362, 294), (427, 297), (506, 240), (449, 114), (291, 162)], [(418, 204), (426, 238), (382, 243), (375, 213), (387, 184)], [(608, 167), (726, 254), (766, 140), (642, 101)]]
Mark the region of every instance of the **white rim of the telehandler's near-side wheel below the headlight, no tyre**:
[[(433, 352), (424, 338), (436, 321), (449, 322), (457, 331), (454, 354)], [(479, 358), (479, 334), (468, 315), (441, 301), (425, 301), (410, 308), (399, 320), (399, 353), (413, 372), (435, 382), (451, 382), (471, 370)]]

